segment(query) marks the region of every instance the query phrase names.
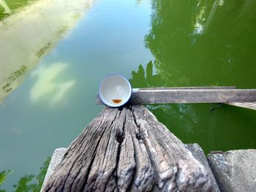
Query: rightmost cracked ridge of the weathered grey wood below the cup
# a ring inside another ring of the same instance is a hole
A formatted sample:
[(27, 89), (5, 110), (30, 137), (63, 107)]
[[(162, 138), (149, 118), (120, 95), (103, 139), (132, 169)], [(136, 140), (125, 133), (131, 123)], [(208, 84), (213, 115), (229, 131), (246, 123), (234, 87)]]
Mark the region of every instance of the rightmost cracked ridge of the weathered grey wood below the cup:
[(146, 107), (132, 112), (151, 158), (160, 191), (212, 191), (206, 168)]

